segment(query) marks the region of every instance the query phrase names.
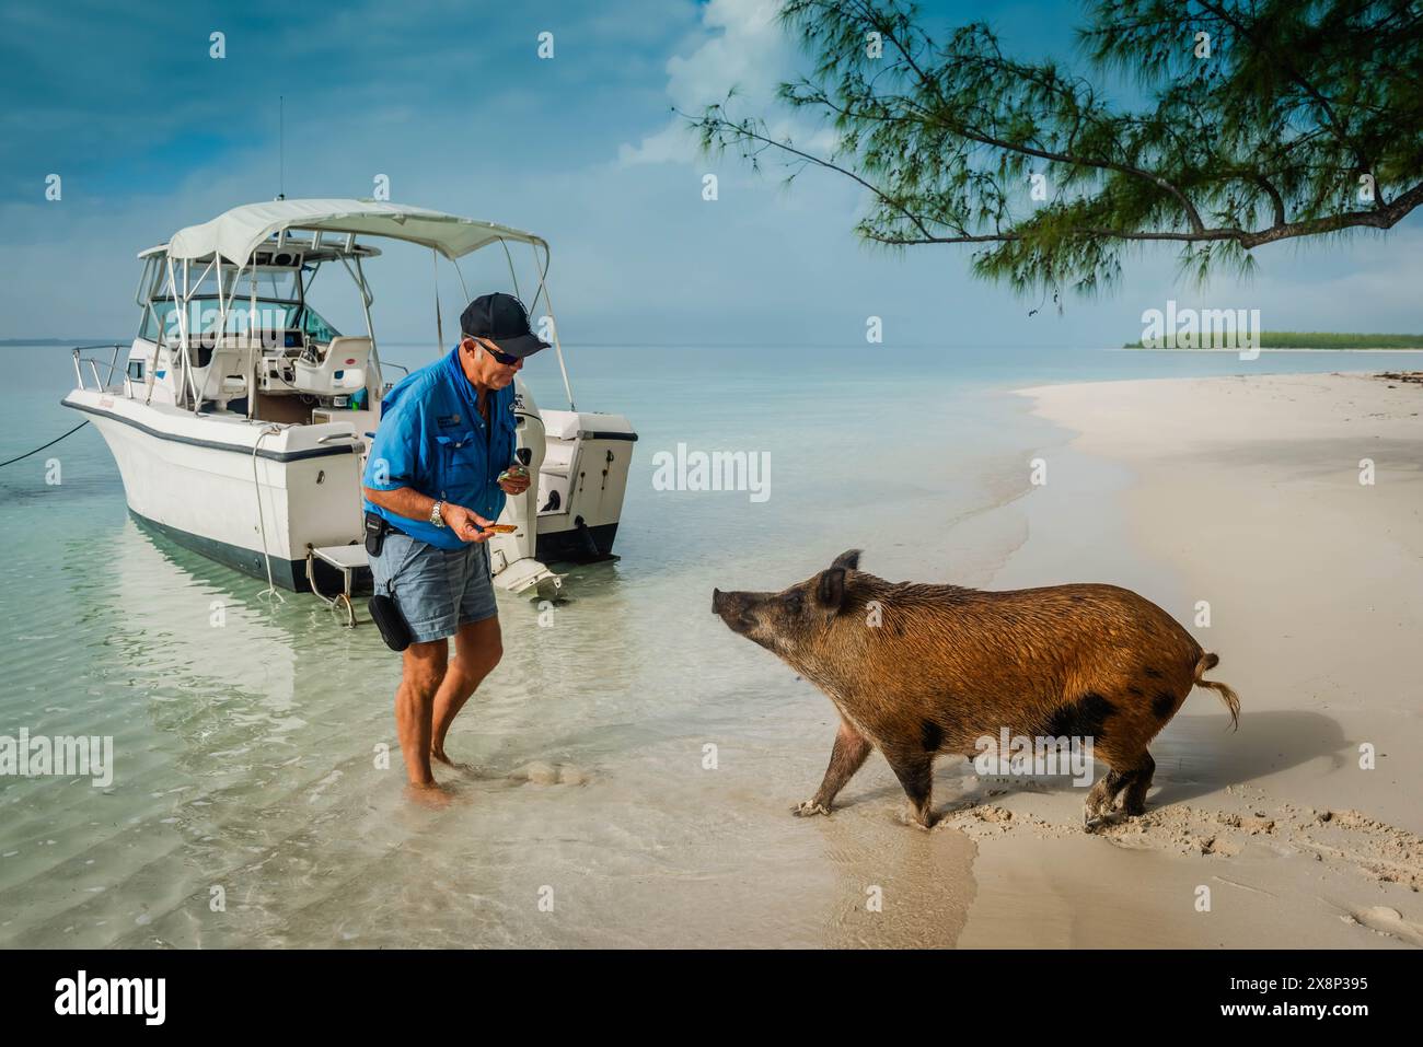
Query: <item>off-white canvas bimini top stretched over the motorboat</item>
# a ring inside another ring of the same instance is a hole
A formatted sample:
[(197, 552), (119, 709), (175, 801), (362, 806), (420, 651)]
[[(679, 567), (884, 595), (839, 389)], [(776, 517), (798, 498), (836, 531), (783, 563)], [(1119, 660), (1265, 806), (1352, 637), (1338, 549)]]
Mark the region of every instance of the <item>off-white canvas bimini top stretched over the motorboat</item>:
[(272, 201), (246, 203), (211, 222), (179, 229), (168, 242), (168, 255), (202, 259), (216, 253), (235, 265), (245, 265), (263, 240), (283, 229), (386, 236), (433, 248), (450, 259), (501, 239), (548, 249), (534, 233), (425, 208), (377, 201)]

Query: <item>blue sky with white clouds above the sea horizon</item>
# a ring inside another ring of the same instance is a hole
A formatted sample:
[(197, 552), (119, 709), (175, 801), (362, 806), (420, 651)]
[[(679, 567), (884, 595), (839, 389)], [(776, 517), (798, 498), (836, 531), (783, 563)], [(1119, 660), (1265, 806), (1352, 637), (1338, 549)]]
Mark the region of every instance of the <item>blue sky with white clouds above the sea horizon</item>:
[[(1419, 215), (1386, 236), (1261, 249), (1251, 282), (1204, 290), (1148, 248), (1116, 292), (1062, 313), (975, 279), (963, 248), (857, 240), (851, 182), (811, 171), (785, 186), (774, 166), (709, 159), (673, 112), (734, 88), (744, 112), (824, 145), (773, 101), (805, 58), (766, 0), (148, 7), (0, 7), (0, 339), (128, 339), (142, 248), (279, 191), (371, 196), (381, 175), (394, 202), (548, 239), (572, 344), (862, 344), (878, 316), (888, 347), (1120, 346), (1168, 299), (1259, 309), (1268, 330), (1423, 330)], [(921, 7), (945, 30), (983, 18), (1027, 57), (1070, 58), (1081, 21), (1049, 0)], [(471, 293), (508, 289), (502, 257), (464, 266)], [(381, 339), (433, 337), (428, 252), (391, 248), (369, 275)], [(440, 293), (448, 331), (448, 269)]]

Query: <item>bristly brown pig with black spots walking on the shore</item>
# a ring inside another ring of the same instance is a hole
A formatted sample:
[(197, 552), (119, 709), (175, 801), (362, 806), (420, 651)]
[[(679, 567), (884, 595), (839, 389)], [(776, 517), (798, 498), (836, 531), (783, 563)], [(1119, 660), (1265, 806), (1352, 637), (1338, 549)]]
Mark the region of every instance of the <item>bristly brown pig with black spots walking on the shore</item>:
[(825, 780), (797, 815), (830, 805), (871, 748), (884, 753), (928, 828), (933, 760), (973, 757), (982, 737), (1091, 738), (1109, 770), (1087, 794), (1084, 822), (1146, 811), (1155, 761), (1147, 744), (1192, 687), (1220, 693), (1238, 726), (1239, 698), (1201, 674), (1205, 653), (1150, 600), (1110, 585), (983, 592), (887, 582), (859, 570), (859, 551), (778, 593), (712, 590), (733, 632), (777, 654), (840, 711)]

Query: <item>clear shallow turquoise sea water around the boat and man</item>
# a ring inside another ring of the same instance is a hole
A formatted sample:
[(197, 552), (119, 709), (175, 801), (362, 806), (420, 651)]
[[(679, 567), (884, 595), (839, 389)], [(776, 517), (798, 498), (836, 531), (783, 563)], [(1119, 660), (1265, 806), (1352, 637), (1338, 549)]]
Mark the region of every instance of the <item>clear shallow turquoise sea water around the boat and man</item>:
[[(4, 459), (77, 418), (65, 350), (0, 358)], [(712, 617), (713, 585), (781, 588), (850, 546), (924, 579), (988, 570), (1012, 539), (965, 548), (955, 525), (1064, 438), (1006, 388), (1423, 356), (589, 347), (569, 367), (581, 408), (640, 434), (620, 559), (575, 569), (545, 625), (501, 595), (505, 660), (451, 738), (478, 770), (441, 812), (404, 801), (398, 753), (379, 765), (398, 660), (371, 626), (141, 532), (92, 427), (0, 471), (0, 734), (115, 745), (108, 788), (0, 777), (0, 946), (847, 943), (844, 899), (921, 861), (879, 835), (898, 787), (867, 767), (855, 815), (791, 822), (831, 707)], [(564, 405), (551, 356), (527, 377)], [(768, 451), (770, 499), (655, 491), (677, 442)], [(521, 784), (531, 761), (586, 781)], [(932, 943), (935, 899), (916, 906)]]

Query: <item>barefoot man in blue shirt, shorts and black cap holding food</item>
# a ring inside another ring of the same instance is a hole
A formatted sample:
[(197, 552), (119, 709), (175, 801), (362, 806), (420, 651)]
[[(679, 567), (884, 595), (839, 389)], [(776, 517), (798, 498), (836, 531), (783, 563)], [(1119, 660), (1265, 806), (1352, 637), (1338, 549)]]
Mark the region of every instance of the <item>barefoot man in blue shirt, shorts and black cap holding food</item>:
[(430, 761), (450, 762), (450, 724), (504, 653), (488, 528), (529, 485), (514, 454), (514, 376), (541, 349), (517, 297), (484, 294), (460, 316), (460, 344), (381, 401), (364, 505), (386, 531), (376, 592), (410, 626), (396, 731), (417, 795), (438, 788)]

